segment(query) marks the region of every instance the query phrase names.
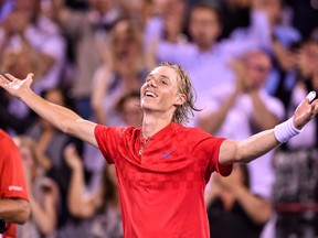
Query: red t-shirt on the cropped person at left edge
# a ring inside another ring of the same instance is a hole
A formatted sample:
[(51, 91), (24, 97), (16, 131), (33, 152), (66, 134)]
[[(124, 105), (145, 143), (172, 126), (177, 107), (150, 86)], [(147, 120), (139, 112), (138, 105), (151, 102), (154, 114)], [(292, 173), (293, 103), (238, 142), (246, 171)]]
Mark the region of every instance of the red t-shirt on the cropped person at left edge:
[[(20, 152), (11, 138), (0, 129), (0, 198), (28, 201), (26, 184)], [(15, 225), (8, 224), (3, 238), (15, 237)], [(0, 235), (1, 236), (1, 235)]]

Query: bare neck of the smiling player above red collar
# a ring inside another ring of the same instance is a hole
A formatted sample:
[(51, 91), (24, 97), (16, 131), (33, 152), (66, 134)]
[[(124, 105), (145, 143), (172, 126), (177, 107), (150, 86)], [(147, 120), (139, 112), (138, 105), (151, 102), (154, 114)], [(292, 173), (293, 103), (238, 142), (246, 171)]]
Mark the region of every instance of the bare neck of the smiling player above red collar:
[(170, 117), (160, 117), (158, 115), (144, 113), (142, 137), (150, 138), (171, 122)]

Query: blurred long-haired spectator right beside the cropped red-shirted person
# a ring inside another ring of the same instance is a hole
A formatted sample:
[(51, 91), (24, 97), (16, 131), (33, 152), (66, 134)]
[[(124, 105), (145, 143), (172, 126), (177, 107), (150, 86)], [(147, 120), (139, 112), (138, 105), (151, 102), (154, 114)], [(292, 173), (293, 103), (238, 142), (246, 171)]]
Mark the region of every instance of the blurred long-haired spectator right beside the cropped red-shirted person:
[(18, 226), (19, 238), (56, 237), (59, 188), (57, 184), (44, 175), (41, 156), (35, 142), (28, 137), (13, 139), (20, 150), (31, 205), (31, 218)]

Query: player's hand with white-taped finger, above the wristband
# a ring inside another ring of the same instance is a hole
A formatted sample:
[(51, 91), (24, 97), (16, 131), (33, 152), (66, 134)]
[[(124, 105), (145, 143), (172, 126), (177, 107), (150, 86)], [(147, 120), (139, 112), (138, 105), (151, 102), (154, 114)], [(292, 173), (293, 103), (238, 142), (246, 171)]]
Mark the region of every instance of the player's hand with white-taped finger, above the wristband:
[[(310, 91), (308, 96), (303, 100), (295, 110), (294, 126), (300, 130), (308, 123), (318, 112), (318, 100), (315, 91)], [(314, 100), (314, 101), (312, 101)], [(311, 104), (310, 104), (311, 101)]]

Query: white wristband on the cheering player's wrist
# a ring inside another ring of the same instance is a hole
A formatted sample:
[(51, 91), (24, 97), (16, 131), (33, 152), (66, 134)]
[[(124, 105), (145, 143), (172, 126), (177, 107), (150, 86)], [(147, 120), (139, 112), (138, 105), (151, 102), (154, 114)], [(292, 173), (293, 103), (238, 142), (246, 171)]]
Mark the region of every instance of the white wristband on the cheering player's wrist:
[(287, 140), (289, 140), (290, 138), (299, 134), (301, 130), (298, 130), (295, 126), (294, 126), (294, 117), (289, 118), (287, 121), (277, 125), (274, 128), (274, 134), (277, 141), (279, 141), (280, 143), (286, 142)]

